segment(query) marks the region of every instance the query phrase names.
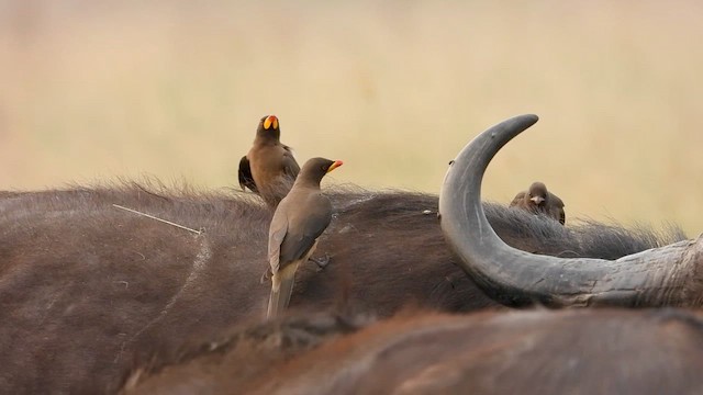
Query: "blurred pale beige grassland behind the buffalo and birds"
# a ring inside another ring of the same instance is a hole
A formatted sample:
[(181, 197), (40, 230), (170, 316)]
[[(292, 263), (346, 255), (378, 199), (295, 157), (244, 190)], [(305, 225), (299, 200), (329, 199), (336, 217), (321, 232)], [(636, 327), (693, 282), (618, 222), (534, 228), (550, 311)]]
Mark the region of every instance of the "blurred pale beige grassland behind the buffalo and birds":
[(438, 192), (505, 117), (484, 199), (703, 229), (703, 3), (0, 0), (0, 188), (236, 185), (258, 120), (334, 179)]

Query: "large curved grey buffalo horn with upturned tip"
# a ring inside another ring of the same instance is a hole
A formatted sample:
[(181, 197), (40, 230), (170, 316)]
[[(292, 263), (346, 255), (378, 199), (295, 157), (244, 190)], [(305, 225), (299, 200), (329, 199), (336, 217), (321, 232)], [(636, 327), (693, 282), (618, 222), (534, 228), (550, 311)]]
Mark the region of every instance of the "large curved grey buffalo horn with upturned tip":
[(533, 255), (498, 237), (483, 213), (481, 180), (498, 150), (535, 122), (536, 115), (520, 115), (489, 128), (447, 171), (439, 218), (462, 269), (489, 296), (511, 306), (700, 306), (703, 237), (614, 261)]

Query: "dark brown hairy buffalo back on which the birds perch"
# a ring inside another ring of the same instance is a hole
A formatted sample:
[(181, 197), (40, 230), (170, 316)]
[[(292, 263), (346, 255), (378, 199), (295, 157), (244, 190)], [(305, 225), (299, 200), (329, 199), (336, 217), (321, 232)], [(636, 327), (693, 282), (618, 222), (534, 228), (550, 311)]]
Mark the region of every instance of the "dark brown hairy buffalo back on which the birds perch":
[[(298, 271), (291, 307), (327, 307), (342, 289), (349, 304), (380, 316), (409, 303), (495, 307), (454, 264), (436, 196), (330, 194), (335, 214), (317, 256), (331, 263)], [(621, 230), (614, 242), (583, 242), (605, 228), (565, 228), (495, 204), (487, 213), (506, 242), (543, 253), (622, 256), (671, 241)], [(176, 360), (182, 345), (261, 316), (270, 216), (252, 194), (138, 184), (0, 193), (0, 392), (113, 393), (140, 363)]]

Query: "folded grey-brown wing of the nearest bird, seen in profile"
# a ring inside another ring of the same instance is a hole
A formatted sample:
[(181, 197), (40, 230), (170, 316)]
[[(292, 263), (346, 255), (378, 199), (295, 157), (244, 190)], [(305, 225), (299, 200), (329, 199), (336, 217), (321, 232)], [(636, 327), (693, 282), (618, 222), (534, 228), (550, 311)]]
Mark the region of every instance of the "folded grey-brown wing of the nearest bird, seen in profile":
[(280, 246), (281, 264), (301, 259), (315, 245), (317, 237), (330, 225), (332, 219), (332, 204), (322, 194), (317, 199), (308, 200), (308, 204), (300, 206), (303, 210), (298, 216), (299, 221), (290, 224), (286, 238)]

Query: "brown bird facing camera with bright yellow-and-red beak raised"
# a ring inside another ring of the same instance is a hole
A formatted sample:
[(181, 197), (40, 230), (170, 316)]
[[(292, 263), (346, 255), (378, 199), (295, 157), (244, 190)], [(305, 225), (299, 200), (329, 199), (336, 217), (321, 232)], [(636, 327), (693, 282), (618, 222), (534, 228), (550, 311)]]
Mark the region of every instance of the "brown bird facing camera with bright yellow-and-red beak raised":
[(239, 187), (258, 193), (266, 203), (276, 207), (290, 191), (300, 166), (290, 147), (280, 142), (278, 119), (267, 115), (256, 129), (254, 145), (239, 160)]

